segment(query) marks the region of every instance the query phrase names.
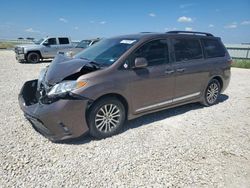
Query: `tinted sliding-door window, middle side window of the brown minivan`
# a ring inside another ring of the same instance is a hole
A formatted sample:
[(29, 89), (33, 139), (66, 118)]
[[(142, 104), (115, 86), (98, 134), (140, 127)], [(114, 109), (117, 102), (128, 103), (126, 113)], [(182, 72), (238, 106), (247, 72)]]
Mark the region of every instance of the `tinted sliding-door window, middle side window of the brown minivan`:
[(202, 58), (200, 42), (197, 39), (174, 39), (173, 45), (176, 61)]

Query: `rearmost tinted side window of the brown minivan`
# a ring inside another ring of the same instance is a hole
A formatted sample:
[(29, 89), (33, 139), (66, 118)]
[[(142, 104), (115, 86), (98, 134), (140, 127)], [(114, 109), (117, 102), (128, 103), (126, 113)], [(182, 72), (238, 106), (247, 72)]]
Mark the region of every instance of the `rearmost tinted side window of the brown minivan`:
[(206, 53), (206, 57), (224, 57), (225, 49), (222, 44), (215, 39), (203, 39), (203, 45)]

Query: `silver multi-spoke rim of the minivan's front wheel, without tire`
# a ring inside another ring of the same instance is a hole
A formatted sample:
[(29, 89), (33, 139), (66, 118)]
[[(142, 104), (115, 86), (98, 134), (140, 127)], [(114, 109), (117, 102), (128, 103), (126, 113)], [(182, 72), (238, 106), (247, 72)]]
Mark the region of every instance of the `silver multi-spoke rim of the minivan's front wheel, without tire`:
[(102, 106), (95, 117), (96, 128), (101, 132), (111, 132), (120, 123), (121, 112), (115, 104)]

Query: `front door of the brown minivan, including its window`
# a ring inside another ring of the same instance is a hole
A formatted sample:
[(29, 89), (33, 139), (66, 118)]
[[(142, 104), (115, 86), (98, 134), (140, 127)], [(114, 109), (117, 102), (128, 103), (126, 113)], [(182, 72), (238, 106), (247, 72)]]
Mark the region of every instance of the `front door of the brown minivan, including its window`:
[(138, 48), (130, 58), (147, 59), (148, 66), (130, 69), (130, 96), (134, 113), (154, 110), (172, 103), (174, 74), (169, 63), (168, 41), (158, 39)]

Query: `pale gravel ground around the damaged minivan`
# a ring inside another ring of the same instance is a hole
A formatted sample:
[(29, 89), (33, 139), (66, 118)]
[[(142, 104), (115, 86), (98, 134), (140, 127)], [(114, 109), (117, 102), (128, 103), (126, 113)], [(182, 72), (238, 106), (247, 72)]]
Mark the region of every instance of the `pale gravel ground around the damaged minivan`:
[(0, 51), (0, 187), (250, 187), (250, 70), (232, 69), (215, 106), (185, 105), (130, 121), (108, 139), (54, 144), (17, 102), (46, 65)]

